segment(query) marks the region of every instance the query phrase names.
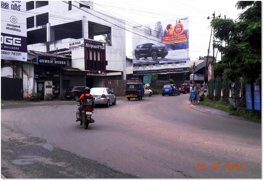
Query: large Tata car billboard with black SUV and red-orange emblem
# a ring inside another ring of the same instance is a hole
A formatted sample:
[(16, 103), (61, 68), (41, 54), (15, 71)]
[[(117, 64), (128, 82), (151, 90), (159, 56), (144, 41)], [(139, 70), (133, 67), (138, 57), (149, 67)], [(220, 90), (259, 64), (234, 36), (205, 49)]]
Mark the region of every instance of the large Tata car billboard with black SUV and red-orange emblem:
[(134, 26), (133, 75), (189, 71), (189, 18)]

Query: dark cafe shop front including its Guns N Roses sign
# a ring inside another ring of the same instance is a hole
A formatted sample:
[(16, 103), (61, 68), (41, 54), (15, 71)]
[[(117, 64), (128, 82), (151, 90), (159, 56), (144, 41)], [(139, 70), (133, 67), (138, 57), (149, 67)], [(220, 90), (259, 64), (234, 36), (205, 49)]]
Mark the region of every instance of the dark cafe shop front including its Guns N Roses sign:
[(52, 94), (54, 99), (59, 98), (61, 90), (61, 67), (67, 65), (67, 57), (37, 56), (37, 65), (34, 68), (35, 92), (45, 99), (45, 95)]

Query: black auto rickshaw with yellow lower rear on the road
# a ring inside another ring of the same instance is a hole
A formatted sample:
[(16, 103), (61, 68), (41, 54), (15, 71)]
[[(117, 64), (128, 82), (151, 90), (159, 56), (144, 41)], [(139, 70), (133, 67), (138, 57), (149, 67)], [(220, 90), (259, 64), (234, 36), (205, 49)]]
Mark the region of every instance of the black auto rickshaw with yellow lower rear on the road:
[(126, 97), (127, 100), (136, 98), (141, 100), (144, 96), (144, 87), (142, 83), (127, 83), (126, 85)]

